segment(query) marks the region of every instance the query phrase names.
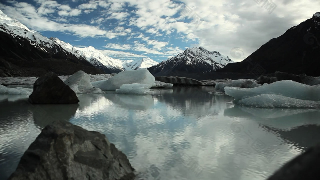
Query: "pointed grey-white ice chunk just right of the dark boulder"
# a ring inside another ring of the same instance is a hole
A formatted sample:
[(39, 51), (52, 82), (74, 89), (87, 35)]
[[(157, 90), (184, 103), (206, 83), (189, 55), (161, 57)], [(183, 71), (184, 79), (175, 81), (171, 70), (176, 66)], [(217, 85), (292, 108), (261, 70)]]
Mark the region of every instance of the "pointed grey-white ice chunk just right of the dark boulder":
[(95, 88), (90, 82), (90, 76), (80, 70), (64, 81), (75, 93), (101, 93), (101, 89)]

